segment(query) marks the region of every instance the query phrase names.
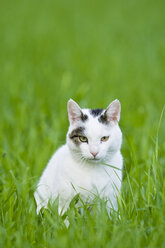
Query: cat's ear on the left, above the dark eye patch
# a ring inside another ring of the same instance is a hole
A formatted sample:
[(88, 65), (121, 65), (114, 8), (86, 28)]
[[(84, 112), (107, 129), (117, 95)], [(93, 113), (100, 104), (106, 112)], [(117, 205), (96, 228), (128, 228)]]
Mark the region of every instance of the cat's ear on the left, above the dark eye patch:
[(68, 118), (70, 124), (73, 124), (74, 122), (81, 120), (81, 117), (82, 117), (81, 108), (75, 101), (70, 99), (68, 101)]

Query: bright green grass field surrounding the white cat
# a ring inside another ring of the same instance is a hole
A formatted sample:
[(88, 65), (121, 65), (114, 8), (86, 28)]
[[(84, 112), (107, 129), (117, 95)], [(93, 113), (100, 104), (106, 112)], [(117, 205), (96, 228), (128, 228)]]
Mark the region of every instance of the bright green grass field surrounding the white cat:
[[(1, 0), (0, 247), (165, 247), (165, 2)], [(105, 204), (70, 227), (33, 193), (65, 143), (69, 98), (121, 101), (120, 218)]]

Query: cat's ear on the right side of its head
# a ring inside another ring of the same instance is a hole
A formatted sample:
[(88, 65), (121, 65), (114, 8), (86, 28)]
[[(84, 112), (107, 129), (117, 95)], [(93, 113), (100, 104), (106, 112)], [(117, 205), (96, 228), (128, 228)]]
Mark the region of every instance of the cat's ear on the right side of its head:
[(121, 111), (121, 105), (119, 100), (116, 99), (109, 104), (103, 115), (108, 123), (111, 121), (119, 122), (120, 111)]

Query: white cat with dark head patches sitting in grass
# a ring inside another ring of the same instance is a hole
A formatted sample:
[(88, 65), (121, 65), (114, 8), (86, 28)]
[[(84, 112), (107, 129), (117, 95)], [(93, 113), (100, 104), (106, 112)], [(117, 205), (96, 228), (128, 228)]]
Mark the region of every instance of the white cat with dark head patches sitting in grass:
[(50, 159), (34, 194), (37, 213), (58, 196), (59, 213), (64, 213), (77, 193), (87, 203), (98, 195), (117, 210), (123, 165), (120, 102), (113, 101), (106, 110), (81, 109), (70, 99), (68, 116), (66, 144)]

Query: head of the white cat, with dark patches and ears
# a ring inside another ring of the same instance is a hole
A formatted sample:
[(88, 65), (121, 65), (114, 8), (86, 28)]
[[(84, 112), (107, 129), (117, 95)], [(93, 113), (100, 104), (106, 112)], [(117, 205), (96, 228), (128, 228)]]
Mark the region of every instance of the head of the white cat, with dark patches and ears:
[(120, 102), (113, 101), (107, 109), (81, 109), (68, 101), (69, 130), (67, 145), (80, 161), (97, 163), (120, 150), (122, 133), (118, 126)]

